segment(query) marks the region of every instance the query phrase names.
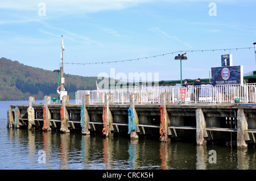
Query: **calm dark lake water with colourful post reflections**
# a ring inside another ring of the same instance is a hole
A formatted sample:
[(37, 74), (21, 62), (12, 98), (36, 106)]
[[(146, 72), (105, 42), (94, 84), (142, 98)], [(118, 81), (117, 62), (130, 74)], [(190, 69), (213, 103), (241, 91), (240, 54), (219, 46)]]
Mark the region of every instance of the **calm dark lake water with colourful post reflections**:
[[(36, 101), (36, 103), (43, 103)], [(70, 100), (72, 102), (72, 100)], [(0, 101), (0, 169), (256, 169), (256, 148), (161, 143), (150, 138), (104, 138), (81, 133), (6, 128), (7, 108), (27, 101)]]

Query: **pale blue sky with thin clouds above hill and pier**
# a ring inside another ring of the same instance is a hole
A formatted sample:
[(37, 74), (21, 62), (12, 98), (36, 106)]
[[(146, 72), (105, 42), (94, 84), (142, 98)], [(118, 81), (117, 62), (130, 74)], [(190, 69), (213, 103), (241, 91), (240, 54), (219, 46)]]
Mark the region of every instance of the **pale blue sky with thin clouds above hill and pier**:
[[(174, 58), (186, 50), (183, 79), (209, 78), (229, 53), (248, 73), (256, 70), (255, 7), (254, 0), (1, 0), (0, 57), (59, 69), (63, 35), (66, 74), (178, 80)], [(109, 61), (121, 62), (95, 64)]]

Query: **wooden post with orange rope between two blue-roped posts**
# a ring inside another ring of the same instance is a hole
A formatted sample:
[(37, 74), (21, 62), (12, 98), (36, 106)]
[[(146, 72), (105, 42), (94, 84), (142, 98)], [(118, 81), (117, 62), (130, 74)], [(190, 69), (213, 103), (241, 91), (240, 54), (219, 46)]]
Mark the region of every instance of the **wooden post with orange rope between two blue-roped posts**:
[(105, 106), (106, 106), (106, 137), (113, 137), (113, 133), (111, 133), (111, 124), (113, 123), (112, 113), (110, 111), (109, 106), (113, 104), (113, 94), (106, 94), (105, 95)]

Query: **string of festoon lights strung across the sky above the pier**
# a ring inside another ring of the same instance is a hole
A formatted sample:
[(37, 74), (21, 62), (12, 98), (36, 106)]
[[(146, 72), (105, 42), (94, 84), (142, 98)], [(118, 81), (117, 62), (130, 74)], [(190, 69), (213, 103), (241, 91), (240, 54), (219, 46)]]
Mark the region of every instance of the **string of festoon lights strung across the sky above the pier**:
[(170, 53), (164, 53), (164, 54), (158, 54), (155, 56), (148, 56), (148, 57), (141, 57), (141, 58), (133, 58), (133, 59), (127, 59), (127, 60), (118, 60), (118, 61), (102, 61), (102, 62), (85, 62), (85, 63), (75, 63), (75, 62), (63, 62), (63, 64), (72, 64), (72, 65), (90, 65), (90, 64), (110, 64), (110, 63), (117, 63), (117, 62), (127, 62), (127, 61), (135, 61), (135, 60), (142, 60), (142, 59), (147, 59), (147, 58), (155, 58), (155, 57), (160, 57), (160, 56), (165, 56), (167, 54), (174, 54), (174, 53), (183, 53), (183, 52), (214, 52), (214, 51), (220, 51), (220, 50), (239, 50), (239, 49), (251, 49), (254, 47), (245, 47), (245, 48), (225, 48), (225, 49), (206, 49), (206, 50), (180, 50), (176, 52), (170, 52)]

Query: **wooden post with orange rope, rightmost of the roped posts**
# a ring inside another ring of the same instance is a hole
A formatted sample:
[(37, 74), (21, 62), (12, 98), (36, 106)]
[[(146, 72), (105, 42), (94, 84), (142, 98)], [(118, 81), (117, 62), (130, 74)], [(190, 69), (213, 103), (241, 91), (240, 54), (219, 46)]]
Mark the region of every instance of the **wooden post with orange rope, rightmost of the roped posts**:
[(170, 142), (171, 138), (168, 137), (167, 128), (170, 126), (170, 117), (166, 110), (166, 106), (170, 103), (170, 93), (163, 92), (160, 94), (160, 141)]

